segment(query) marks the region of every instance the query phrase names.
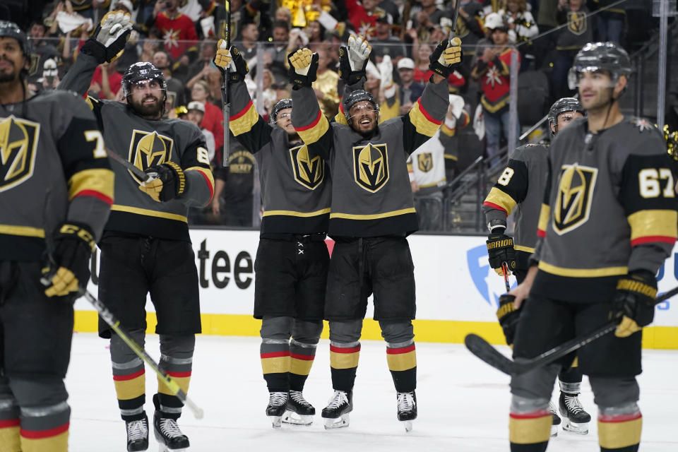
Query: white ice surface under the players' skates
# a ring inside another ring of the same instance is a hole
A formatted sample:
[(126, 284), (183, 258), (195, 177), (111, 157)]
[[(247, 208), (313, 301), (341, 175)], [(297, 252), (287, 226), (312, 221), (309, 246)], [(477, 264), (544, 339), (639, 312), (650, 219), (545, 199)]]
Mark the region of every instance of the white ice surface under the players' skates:
[[(158, 359), (157, 335), (148, 335), (146, 350)], [(480, 362), (463, 345), (417, 343), (419, 418), (410, 433), (396, 419), (396, 393), (383, 342), (362, 343), (350, 426), (335, 430), (325, 430), (320, 417), (332, 393), (328, 341), (321, 340), (304, 389), (317, 413), (310, 427), (271, 428), (264, 415), (268, 392), (258, 353), (258, 338), (198, 336), (189, 397), (203, 408), (205, 417), (196, 420), (185, 408), (179, 420), (191, 441), (190, 451), (509, 451), (509, 377)], [(641, 451), (676, 452), (678, 351), (644, 350), (643, 368)], [(66, 379), (72, 409), (71, 451), (126, 451), (125, 426), (111, 375), (107, 340), (94, 333), (73, 335)], [(146, 388), (145, 408), (152, 418), (151, 398), (157, 383), (148, 367)], [(549, 452), (600, 450), (596, 408), (586, 377), (581, 401), (593, 417), (589, 434), (560, 431), (549, 442)], [(152, 427), (149, 451), (157, 451)]]

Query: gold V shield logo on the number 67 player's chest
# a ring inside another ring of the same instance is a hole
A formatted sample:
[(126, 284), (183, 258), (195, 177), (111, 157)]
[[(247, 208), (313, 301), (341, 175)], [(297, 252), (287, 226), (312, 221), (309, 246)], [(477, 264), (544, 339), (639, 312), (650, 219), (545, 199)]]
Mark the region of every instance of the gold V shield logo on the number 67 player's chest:
[(570, 232), (588, 220), (597, 174), (597, 168), (563, 165), (553, 211), (553, 230), (557, 234)]

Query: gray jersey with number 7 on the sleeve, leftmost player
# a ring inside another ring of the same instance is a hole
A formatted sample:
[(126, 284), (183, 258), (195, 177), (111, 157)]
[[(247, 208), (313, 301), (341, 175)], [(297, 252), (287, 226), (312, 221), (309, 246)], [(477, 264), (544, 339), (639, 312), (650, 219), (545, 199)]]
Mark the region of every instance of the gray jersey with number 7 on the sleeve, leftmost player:
[(0, 105), (0, 261), (40, 261), (45, 236), (81, 222), (101, 237), (113, 172), (94, 115), (73, 93)]

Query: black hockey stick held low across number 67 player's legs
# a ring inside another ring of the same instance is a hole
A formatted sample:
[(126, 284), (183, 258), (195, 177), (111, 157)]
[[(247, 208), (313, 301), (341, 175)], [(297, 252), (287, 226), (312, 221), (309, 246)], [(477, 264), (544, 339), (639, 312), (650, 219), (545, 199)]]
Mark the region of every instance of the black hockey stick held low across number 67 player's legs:
[[(676, 294), (678, 294), (678, 287), (674, 287), (672, 290), (663, 293), (655, 300), (655, 305), (670, 299)], [(617, 329), (617, 322), (609, 321), (600, 328), (597, 328), (580, 338), (568, 340), (566, 343), (557, 345), (557, 347), (553, 347), (551, 350), (547, 350), (535, 358), (521, 360), (521, 362), (515, 362), (513, 359), (502, 355), (499, 350), (496, 350), (496, 348), (490, 345), (487, 340), (484, 340), (477, 334), (470, 333), (466, 335), (464, 343), (466, 348), (468, 348), (473, 355), (479, 357), (484, 362), (487, 362), (490, 366), (504, 372), (504, 374), (516, 375), (524, 374), (527, 371), (554, 362), (556, 359), (564, 357), (588, 343), (592, 343), (597, 338), (600, 338), (615, 329)]]

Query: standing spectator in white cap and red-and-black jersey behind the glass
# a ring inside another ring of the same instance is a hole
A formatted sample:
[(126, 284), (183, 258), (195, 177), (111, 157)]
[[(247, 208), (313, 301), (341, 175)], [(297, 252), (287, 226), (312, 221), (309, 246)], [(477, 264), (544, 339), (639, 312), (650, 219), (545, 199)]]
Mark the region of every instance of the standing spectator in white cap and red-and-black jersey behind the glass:
[[(489, 16), (489, 15), (488, 15)], [(501, 16), (492, 16), (486, 20), (485, 26), (492, 30), (493, 47), (485, 47), (482, 57), (477, 59), (471, 69), (471, 77), (480, 81), (482, 87), (482, 118), (487, 136), (487, 157), (490, 165), (499, 160), (493, 157), (499, 153), (501, 132), (509, 139), (509, 90), (511, 82), (511, 48), (509, 43), (509, 28), (506, 27)], [(520, 54), (518, 54), (520, 63)], [(517, 121), (517, 119), (516, 119)], [(520, 125), (516, 127), (516, 136), (520, 132)]]

